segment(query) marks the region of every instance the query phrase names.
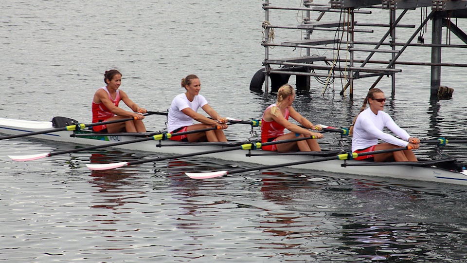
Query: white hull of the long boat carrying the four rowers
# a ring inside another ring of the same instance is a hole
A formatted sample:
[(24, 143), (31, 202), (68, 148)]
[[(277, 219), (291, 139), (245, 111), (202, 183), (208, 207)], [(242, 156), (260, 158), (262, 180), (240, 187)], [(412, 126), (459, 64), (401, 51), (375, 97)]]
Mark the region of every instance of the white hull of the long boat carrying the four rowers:
[[(51, 122), (38, 122), (38, 121), (25, 121), (25, 120), (14, 120), (0, 118), (0, 133), (4, 134), (22, 134), (25, 132), (36, 132), (53, 129)], [(81, 131), (85, 132), (85, 131)], [(89, 131), (88, 131), (89, 132)], [(79, 133), (79, 131), (78, 131)], [(103, 135), (94, 137), (71, 137), (73, 131), (57, 131), (53, 133), (37, 134), (31, 137), (51, 140), (56, 142), (66, 142), (78, 145), (107, 145), (114, 142), (131, 141), (140, 139), (141, 136), (133, 135)], [(28, 137), (25, 137), (28, 138)], [(218, 150), (223, 148), (229, 148), (230, 146), (219, 146), (219, 145), (180, 145), (185, 143), (174, 142), (174, 141), (154, 141), (148, 140), (138, 143), (130, 143), (113, 148), (134, 150), (134, 151), (147, 151), (157, 152), (162, 154), (187, 154), (187, 153), (198, 153), (201, 151)], [(158, 147), (161, 146), (161, 147)], [(179, 145), (179, 146), (174, 146)], [(252, 153), (261, 153), (261, 150), (253, 150)], [(249, 153), (246, 150), (232, 150), (225, 152), (216, 152), (206, 155), (202, 155), (209, 158), (217, 158), (227, 160), (231, 162), (247, 162), (257, 164), (261, 166), (276, 165), (282, 163), (299, 162), (306, 160), (314, 160), (316, 158), (322, 158), (321, 156), (312, 155), (260, 155), (260, 156), (246, 156)], [(31, 152), (31, 154), (38, 154), (38, 152)], [(341, 165), (344, 161), (341, 160), (328, 160), (323, 162), (315, 162), (308, 164), (295, 165), (294, 168), (299, 169), (310, 169), (317, 171), (325, 171), (332, 173), (345, 173), (345, 174), (358, 174), (367, 176), (381, 176), (381, 177), (392, 177), (399, 179), (408, 180), (422, 180), (432, 181), (440, 183), (451, 183), (467, 185), (466, 171), (458, 172), (455, 170), (440, 169), (436, 167), (417, 167), (410, 165), (391, 165), (385, 167), (383, 165), (377, 166), (346, 166)], [(361, 161), (346, 161), (347, 164), (362, 164)]]

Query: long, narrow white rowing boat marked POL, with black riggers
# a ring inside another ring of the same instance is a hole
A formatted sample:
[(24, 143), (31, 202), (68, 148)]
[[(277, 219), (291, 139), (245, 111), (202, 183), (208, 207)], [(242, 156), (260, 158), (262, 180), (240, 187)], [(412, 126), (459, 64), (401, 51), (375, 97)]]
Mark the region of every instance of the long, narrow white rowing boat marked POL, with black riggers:
[[(0, 133), (21, 134), (26, 132), (46, 131), (53, 128), (52, 122), (30, 121), (0, 118)], [(56, 142), (73, 143), (77, 145), (106, 146), (116, 142), (129, 142), (138, 138), (151, 137), (159, 132), (145, 133), (94, 133), (88, 129), (77, 131), (57, 131), (44, 134), (36, 134), (31, 137), (51, 140)], [(236, 147), (247, 142), (228, 143), (184, 143), (170, 140), (150, 140), (112, 146), (113, 148), (156, 152), (161, 154), (187, 154), (202, 151), (216, 151)], [(459, 164), (452, 157), (446, 156), (438, 160), (427, 160), (420, 162), (385, 162), (374, 163), (355, 160), (326, 160), (319, 158), (328, 157), (342, 153), (340, 150), (323, 150), (323, 152), (294, 152), (278, 153), (258, 150), (232, 150), (225, 152), (208, 153), (203, 156), (227, 160), (229, 162), (245, 162), (258, 165), (277, 165), (292, 162), (303, 162), (294, 165), (298, 169), (309, 169), (332, 173), (358, 174), (367, 176), (392, 177), (409, 180), (423, 180), (441, 183), (467, 185), (467, 170), (459, 168)], [(327, 158), (329, 159), (329, 158)], [(313, 163), (306, 161), (314, 160)]]

